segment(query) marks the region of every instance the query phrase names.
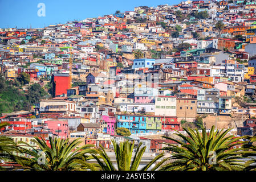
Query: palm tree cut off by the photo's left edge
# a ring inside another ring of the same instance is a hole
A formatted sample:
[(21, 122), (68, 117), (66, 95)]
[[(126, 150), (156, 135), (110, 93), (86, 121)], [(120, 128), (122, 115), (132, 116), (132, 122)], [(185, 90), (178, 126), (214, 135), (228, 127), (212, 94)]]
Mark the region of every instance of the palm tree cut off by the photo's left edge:
[[(0, 130), (8, 125), (10, 125), (10, 123), (0, 123)], [(21, 152), (20, 148), (17, 146), (14, 140), (10, 137), (6, 137), (5, 135), (0, 135), (0, 163), (14, 162), (14, 152)], [(3, 168), (0, 166), (0, 169)]]

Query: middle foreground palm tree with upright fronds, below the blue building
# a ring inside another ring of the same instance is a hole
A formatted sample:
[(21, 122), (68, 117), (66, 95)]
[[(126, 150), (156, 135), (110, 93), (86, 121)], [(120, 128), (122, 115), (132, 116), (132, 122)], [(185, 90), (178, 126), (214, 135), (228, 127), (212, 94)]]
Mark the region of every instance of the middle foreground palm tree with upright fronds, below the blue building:
[[(117, 168), (113, 166), (113, 162), (105, 152), (104, 148), (100, 146), (100, 149), (98, 150), (99, 156), (92, 154), (94, 158), (97, 160), (97, 163), (99, 163), (99, 166), (101, 170), (103, 171), (137, 171), (141, 158), (144, 154), (144, 151), (146, 147), (141, 147), (141, 142), (139, 143), (137, 150), (135, 152), (135, 155), (132, 159), (132, 151), (134, 147), (134, 141), (129, 142), (128, 140), (125, 142), (121, 142), (120, 144), (117, 144), (115, 140), (112, 140), (113, 147), (115, 150), (115, 156), (116, 156), (116, 163)], [(150, 167), (153, 167), (152, 164), (154, 164), (158, 159), (162, 158), (164, 153), (161, 153), (157, 155), (151, 162), (149, 162), (145, 167), (141, 168), (140, 171), (147, 171)], [(102, 160), (100, 160), (102, 159)], [(166, 159), (161, 160), (161, 162), (157, 163), (155, 167), (152, 168), (152, 170), (156, 170), (161, 166), (162, 163), (164, 163)]]

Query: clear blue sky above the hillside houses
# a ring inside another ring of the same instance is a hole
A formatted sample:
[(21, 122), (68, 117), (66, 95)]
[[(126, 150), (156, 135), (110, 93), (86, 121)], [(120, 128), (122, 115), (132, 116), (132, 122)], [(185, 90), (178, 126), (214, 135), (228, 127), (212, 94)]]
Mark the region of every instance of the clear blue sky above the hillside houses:
[[(50, 24), (133, 11), (137, 6), (174, 5), (181, 0), (0, 0), (0, 28), (43, 28)], [(45, 5), (45, 16), (42, 6)], [(39, 11), (39, 15), (38, 15)]]

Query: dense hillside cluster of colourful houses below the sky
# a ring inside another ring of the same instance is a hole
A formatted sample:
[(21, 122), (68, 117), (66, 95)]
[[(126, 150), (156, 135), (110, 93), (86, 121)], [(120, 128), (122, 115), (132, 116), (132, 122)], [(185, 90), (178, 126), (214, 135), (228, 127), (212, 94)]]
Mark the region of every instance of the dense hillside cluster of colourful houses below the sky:
[[(0, 28), (6, 79), (26, 72), (30, 83), (52, 85), (52, 98), (32, 110), (3, 113), (0, 122), (11, 125), (2, 132), (109, 148), (111, 138), (124, 140), (116, 134), (124, 127), (156, 152), (162, 140), (143, 134), (182, 130), (181, 121), (200, 115), (244, 114), (238, 134), (254, 135), (255, 9), (255, 1), (182, 1), (44, 28)], [(203, 11), (207, 17), (194, 16)], [(144, 56), (135, 59), (138, 49)], [(238, 102), (245, 97), (251, 103)]]

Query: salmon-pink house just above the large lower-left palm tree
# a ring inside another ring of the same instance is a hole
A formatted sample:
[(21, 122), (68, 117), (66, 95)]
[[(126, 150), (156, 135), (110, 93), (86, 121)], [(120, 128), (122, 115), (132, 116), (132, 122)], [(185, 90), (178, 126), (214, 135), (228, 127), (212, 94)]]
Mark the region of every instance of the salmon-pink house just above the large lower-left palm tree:
[(45, 121), (44, 126), (51, 129), (54, 135), (60, 138), (68, 138), (68, 121), (66, 119), (51, 119)]

